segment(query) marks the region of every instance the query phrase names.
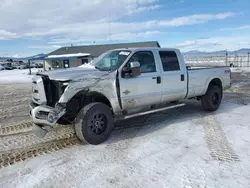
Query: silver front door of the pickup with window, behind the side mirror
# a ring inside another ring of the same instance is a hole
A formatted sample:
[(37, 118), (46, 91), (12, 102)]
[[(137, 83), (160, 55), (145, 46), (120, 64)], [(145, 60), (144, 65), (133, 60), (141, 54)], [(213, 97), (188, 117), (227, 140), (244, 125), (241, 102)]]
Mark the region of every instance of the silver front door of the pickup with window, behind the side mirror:
[(123, 110), (150, 106), (161, 101), (161, 80), (158, 66), (152, 51), (135, 52), (128, 61), (139, 62), (141, 75), (137, 77), (120, 78), (120, 95)]

